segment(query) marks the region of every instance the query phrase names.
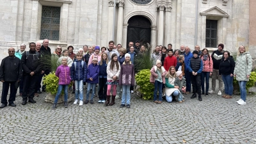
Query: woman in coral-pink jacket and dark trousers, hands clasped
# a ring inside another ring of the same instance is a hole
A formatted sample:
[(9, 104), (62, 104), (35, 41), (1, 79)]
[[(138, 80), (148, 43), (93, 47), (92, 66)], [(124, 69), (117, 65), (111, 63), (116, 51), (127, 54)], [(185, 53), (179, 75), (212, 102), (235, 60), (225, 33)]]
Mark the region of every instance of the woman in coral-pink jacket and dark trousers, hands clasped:
[[(209, 78), (212, 75), (212, 58), (208, 52), (208, 49), (203, 49), (200, 58), (203, 61), (203, 70), (201, 73), (201, 84), (202, 84), (202, 95), (209, 96)], [(204, 87), (204, 82), (206, 83), (206, 90)], [(204, 91), (205, 90), (205, 91)]]

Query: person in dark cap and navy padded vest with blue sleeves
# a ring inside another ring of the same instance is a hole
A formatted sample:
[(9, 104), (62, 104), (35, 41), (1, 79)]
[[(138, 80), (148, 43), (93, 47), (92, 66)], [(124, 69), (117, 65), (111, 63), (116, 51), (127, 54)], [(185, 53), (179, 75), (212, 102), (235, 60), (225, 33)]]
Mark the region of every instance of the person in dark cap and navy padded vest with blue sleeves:
[(203, 70), (203, 61), (198, 56), (198, 51), (193, 51), (193, 57), (190, 58), (188, 63), (188, 70), (190, 72), (191, 83), (193, 88), (193, 95), (191, 99), (196, 98), (196, 92), (198, 93), (198, 100), (202, 101), (201, 95), (201, 73)]

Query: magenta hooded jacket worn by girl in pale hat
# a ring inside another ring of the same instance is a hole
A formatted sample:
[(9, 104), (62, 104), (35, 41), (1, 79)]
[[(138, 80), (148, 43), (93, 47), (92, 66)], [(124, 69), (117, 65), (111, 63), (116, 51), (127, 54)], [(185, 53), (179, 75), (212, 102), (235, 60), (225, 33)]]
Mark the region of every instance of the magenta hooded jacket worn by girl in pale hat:
[(55, 76), (59, 77), (59, 85), (70, 84), (70, 68), (68, 65), (60, 65), (55, 72)]

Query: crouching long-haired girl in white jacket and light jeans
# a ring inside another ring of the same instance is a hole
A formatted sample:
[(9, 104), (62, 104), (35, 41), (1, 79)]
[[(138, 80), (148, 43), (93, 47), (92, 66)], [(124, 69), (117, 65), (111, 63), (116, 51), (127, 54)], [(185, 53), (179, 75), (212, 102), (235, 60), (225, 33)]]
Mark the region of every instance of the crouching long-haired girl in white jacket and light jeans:
[[(176, 78), (176, 71), (175, 67), (170, 67), (166, 77), (165, 77), (165, 95), (166, 95), (166, 101), (167, 102), (172, 102), (176, 101), (177, 96), (179, 96), (180, 91), (179, 91), (179, 86), (174, 86), (175, 78)], [(179, 97), (180, 98), (180, 97)], [(182, 99), (178, 99), (179, 101)]]

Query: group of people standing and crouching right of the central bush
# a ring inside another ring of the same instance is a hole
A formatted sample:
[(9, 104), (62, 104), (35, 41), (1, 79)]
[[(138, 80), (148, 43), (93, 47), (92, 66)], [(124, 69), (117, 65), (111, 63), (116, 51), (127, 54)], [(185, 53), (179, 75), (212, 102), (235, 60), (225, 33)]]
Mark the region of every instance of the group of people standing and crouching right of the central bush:
[[(225, 99), (232, 99), (233, 79), (239, 81), (241, 99), (237, 104), (246, 104), (246, 82), (250, 79), (252, 71), (252, 57), (249, 52), (241, 45), (238, 49), (236, 62), (230, 56), (230, 52), (224, 51), (224, 45), (219, 44), (218, 50), (209, 54), (208, 49), (195, 46), (195, 51), (191, 52), (188, 46), (180, 46), (180, 49), (173, 51), (172, 44), (168, 48), (157, 45), (151, 55), (156, 65), (150, 70), (150, 82), (154, 84), (154, 102), (161, 104), (162, 96), (166, 97), (167, 102), (184, 102), (182, 94), (192, 93), (191, 99), (197, 97), (202, 101), (202, 95), (209, 96), (215, 93), (216, 79), (219, 81), (217, 95)], [(209, 90), (209, 77), (212, 77), (212, 88)], [(224, 94), (221, 93), (225, 85)], [(157, 91), (159, 100), (157, 100)]]

